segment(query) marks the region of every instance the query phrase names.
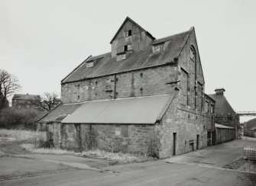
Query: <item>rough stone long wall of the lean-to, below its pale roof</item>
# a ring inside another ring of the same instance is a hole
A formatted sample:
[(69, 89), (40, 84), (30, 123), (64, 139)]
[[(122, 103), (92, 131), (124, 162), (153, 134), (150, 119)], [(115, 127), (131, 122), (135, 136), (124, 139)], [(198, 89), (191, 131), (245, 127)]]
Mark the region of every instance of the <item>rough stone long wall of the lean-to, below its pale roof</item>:
[[(136, 152), (158, 157), (155, 125), (148, 124), (65, 124), (47, 123), (45, 141), (62, 149), (104, 149)], [(42, 131), (40, 131), (42, 130)]]

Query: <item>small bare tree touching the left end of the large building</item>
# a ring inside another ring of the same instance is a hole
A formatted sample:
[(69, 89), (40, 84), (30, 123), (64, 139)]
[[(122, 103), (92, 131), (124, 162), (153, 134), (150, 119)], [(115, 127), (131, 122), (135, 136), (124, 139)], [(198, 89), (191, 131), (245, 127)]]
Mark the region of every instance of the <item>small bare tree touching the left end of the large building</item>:
[(37, 100), (38, 106), (46, 111), (50, 111), (53, 109), (53, 107), (56, 107), (57, 104), (60, 104), (60, 99), (57, 97), (58, 95), (54, 92), (45, 92), (44, 95)]

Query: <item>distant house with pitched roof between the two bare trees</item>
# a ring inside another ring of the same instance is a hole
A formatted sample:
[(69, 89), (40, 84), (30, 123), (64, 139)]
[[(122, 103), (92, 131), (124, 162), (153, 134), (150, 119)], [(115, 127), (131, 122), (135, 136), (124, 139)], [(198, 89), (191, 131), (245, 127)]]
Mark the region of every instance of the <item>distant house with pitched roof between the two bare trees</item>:
[(41, 109), (38, 105), (40, 100), (40, 95), (20, 95), (15, 94), (11, 101), (11, 107), (20, 108), (20, 109)]

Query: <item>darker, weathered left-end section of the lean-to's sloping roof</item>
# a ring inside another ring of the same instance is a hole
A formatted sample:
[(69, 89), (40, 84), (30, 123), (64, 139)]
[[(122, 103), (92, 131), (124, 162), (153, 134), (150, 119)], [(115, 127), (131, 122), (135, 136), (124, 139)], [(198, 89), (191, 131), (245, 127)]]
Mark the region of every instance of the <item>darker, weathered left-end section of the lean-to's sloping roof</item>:
[(53, 108), (53, 110), (49, 111), (39, 120), (37, 123), (49, 123), (52, 121), (61, 121), (63, 120), (68, 114), (72, 114), (79, 108), (83, 103), (79, 104), (60, 104), (59, 106)]

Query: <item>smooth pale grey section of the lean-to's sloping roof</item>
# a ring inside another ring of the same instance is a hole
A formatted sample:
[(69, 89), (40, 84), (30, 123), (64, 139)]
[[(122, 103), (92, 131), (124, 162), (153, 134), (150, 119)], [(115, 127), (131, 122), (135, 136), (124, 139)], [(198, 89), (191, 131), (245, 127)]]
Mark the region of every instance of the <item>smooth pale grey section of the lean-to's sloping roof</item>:
[(154, 124), (161, 120), (173, 95), (86, 101), (62, 123)]

